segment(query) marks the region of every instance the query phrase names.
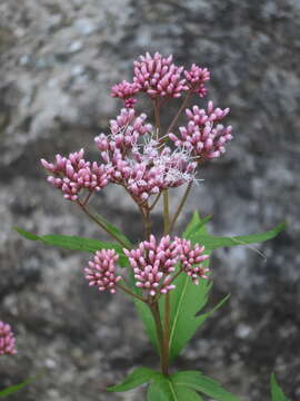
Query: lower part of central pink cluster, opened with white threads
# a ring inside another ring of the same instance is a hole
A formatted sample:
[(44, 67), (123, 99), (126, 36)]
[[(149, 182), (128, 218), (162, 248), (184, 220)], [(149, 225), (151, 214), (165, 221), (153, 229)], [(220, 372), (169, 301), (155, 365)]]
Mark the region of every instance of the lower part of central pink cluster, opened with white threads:
[(102, 153), (111, 165), (111, 180), (124, 186), (139, 202), (163, 189), (178, 187), (196, 180), (194, 163), (188, 151), (160, 148), (159, 140), (144, 138), (143, 144), (134, 144), (129, 155), (121, 149)]

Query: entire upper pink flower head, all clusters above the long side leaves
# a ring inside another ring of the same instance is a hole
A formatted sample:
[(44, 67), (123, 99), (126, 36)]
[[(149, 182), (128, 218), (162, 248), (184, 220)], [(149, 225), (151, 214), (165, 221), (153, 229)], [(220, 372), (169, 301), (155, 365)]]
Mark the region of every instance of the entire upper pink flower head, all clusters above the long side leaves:
[[(144, 91), (151, 98), (172, 98), (180, 97), (184, 90), (204, 96), (204, 84), (209, 79), (207, 68), (193, 63), (190, 70), (183, 70), (172, 62), (172, 56), (163, 57), (159, 52), (140, 56), (140, 60), (134, 61), (133, 82), (123, 80), (111, 89), (111, 96), (127, 102), (119, 116), (110, 121), (110, 134), (94, 138), (102, 163), (86, 162), (83, 149), (68, 157), (57, 155), (53, 164), (41, 159), (42, 166), (51, 174), (48, 180), (62, 190), (67, 199), (76, 202), (81, 189), (92, 193), (109, 183), (118, 184), (140, 204), (163, 189), (197, 180), (200, 159), (219, 157), (232, 138), (232, 128), (220, 124), (229, 109), (214, 108), (212, 101), (207, 110), (198, 106), (188, 108), (189, 121), (179, 127), (179, 135), (167, 133), (162, 137), (158, 118), (154, 131), (147, 123), (146, 114), (136, 114), (132, 96)], [(156, 106), (158, 114), (159, 105)], [(169, 139), (176, 146), (173, 150), (166, 145)]]

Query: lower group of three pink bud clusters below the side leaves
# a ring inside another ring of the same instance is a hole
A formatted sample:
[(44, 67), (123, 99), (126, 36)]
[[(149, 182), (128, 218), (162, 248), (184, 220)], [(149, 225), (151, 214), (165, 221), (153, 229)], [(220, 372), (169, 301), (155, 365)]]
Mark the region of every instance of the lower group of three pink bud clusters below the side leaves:
[[(133, 270), (136, 285), (143, 290), (150, 297), (157, 294), (167, 294), (176, 285), (176, 265), (181, 264), (181, 272), (191, 277), (193, 284), (199, 284), (199, 278), (208, 278), (209, 268), (202, 267), (201, 263), (209, 256), (203, 255), (204, 247), (191, 245), (190, 241), (169, 235), (160, 241), (150, 235), (149, 241), (141, 242), (137, 248), (123, 252)], [(86, 268), (86, 278), (90, 285), (97, 285), (99, 291), (109, 290), (116, 293), (116, 285), (121, 276), (116, 274), (118, 255), (113, 250), (97, 251), (93, 260)]]

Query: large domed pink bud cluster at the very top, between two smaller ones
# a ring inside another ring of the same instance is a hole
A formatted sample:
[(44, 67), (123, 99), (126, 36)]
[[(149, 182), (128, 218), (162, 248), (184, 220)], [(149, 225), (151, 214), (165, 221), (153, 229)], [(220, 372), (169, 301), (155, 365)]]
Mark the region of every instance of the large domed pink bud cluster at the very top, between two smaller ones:
[(133, 81), (140, 90), (146, 91), (152, 98), (170, 96), (178, 98), (183, 90), (188, 90), (186, 79), (182, 79), (183, 67), (172, 63), (172, 56), (162, 57), (159, 52), (151, 56), (140, 56), (140, 61), (134, 61)]

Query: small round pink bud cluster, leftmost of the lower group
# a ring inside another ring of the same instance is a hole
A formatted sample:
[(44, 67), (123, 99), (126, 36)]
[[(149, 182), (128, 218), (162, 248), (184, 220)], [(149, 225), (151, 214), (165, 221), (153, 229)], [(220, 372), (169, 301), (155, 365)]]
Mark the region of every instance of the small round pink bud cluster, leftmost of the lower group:
[(89, 262), (89, 267), (84, 270), (89, 285), (98, 286), (99, 291), (109, 290), (116, 293), (116, 284), (122, 278), (116, 275), (116, 262), (119, 255), (114, 250), (97, 251), (93, 261)]

